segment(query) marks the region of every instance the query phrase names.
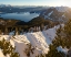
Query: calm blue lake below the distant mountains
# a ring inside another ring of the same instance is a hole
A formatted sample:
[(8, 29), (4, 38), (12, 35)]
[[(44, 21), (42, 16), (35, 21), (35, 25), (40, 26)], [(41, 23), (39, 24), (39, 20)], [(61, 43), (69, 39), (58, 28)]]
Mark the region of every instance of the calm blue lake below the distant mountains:
[(30, 21), (33, 18), (39, 16), (39, 13), (29, 13), (29, 12), (24, 12), (24, 13), (1, 13), (0, 18), (3, 19), (16, 19), (16, 20), (21, 20), (21, 21)]

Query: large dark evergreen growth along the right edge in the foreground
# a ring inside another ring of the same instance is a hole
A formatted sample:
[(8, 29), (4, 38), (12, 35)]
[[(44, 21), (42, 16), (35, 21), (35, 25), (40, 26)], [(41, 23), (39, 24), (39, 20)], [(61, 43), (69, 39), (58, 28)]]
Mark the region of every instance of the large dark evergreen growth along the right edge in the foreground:
[(62, 48), (68, 48), (68, 56), (71, 55), (71, 20), (69, 20), (63, 27), (58, 29), (57, 36), (50, 45), (50, 50), (47, 54), (47, 57), (64, 57), (65, 55), (62, 52), (58, 52), (57, 47), (62, 46)]

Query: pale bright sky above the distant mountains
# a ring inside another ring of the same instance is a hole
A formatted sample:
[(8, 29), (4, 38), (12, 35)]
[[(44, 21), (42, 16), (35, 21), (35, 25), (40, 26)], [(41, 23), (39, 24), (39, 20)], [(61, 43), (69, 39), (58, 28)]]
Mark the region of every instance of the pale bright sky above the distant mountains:
[(71, 0), (0, 0), (0, 4), (71, 7)]

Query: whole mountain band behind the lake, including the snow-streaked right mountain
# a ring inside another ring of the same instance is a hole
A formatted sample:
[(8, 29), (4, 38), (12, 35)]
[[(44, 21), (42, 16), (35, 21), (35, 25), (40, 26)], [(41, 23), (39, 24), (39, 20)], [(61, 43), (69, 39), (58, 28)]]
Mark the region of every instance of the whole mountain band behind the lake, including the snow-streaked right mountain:
[(34, 7), (34, 5), (6, 5), (0, 4), (0, 13), (39, 13), (45, 20), (67, 22), (71, 19), (71, 8), (69, 7)]

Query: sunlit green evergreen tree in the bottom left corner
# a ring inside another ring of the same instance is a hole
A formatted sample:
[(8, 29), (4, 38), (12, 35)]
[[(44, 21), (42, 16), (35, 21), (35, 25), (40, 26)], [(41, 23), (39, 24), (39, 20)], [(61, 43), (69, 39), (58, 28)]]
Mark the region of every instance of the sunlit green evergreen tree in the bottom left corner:
[(19, 54), (16, 53), (16, 48), (13, 48), (10, 42), (4, 38), (0, 41), (0, 48), (4, 56), (10, 55), (10, 57), (19, 57)]

